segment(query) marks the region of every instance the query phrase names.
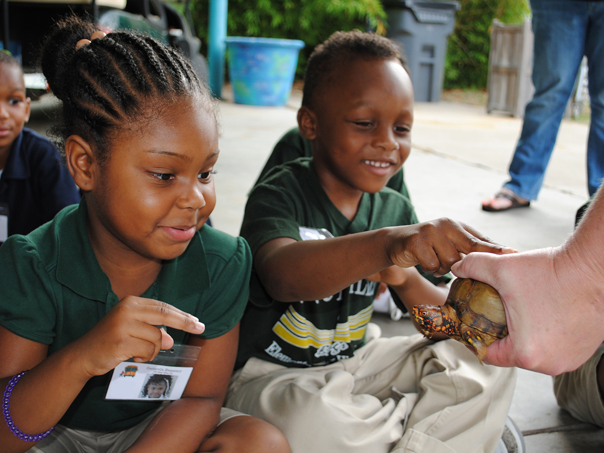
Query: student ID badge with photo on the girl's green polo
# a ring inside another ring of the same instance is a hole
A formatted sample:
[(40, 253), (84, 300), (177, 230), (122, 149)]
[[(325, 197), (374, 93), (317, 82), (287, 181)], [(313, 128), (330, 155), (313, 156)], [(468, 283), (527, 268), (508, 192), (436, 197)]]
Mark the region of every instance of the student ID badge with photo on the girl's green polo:
[(175, 344), (150, 362), (133, 359), (114, 368), (106, 400), (175, 400), (187, 387), (201, 347)]

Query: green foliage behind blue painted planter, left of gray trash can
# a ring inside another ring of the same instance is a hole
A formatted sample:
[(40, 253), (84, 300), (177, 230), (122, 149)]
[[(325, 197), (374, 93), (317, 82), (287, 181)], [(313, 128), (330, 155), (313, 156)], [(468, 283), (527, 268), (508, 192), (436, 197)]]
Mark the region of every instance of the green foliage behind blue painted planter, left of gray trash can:
[[(192, 0), (193, 22), (207, 55), (209, 0)], [(365, 30), (384, 33), (386, 14), (379, 0), (229, 0), (228, 36), (301, 39), (297, 76), (315, 46), (334, 31)]]

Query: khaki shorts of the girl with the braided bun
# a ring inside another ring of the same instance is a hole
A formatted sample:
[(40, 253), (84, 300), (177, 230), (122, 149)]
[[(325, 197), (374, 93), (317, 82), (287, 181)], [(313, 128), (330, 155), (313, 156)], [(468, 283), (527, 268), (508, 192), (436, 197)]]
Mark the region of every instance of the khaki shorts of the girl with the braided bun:
[[(151, 420), (168, 404), (169, 402), (165, 402), (138, 425), (123, 431), (89, 431), (57, 425), (48, 437), (40, 440), (25, 453), (121, 453), (138, 439)], [(218, 426), (228, 419), (242, 415), (246, 414), (222, 408)]]

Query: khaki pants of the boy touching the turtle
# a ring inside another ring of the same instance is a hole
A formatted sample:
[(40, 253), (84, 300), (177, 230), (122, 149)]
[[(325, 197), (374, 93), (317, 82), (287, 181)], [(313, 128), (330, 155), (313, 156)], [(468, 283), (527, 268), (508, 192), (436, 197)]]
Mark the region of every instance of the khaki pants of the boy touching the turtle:
[(293, 453), (495, 451), (515, 369), (481, 365), (454, 340), (379, 334), (369, 324), (355, 356), (322, 367), (251, 358), (225, 406), (277, 426)]

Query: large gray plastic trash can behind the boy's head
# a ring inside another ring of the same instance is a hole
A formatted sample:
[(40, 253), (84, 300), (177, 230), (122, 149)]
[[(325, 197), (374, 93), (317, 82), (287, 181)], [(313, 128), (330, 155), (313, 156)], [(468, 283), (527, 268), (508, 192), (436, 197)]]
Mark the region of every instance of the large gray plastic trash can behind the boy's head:
[(454, 0), (384, 0), (387, 36), (405, 51), (416, 101), (440, 101), (447, 37), (459, 8)]

